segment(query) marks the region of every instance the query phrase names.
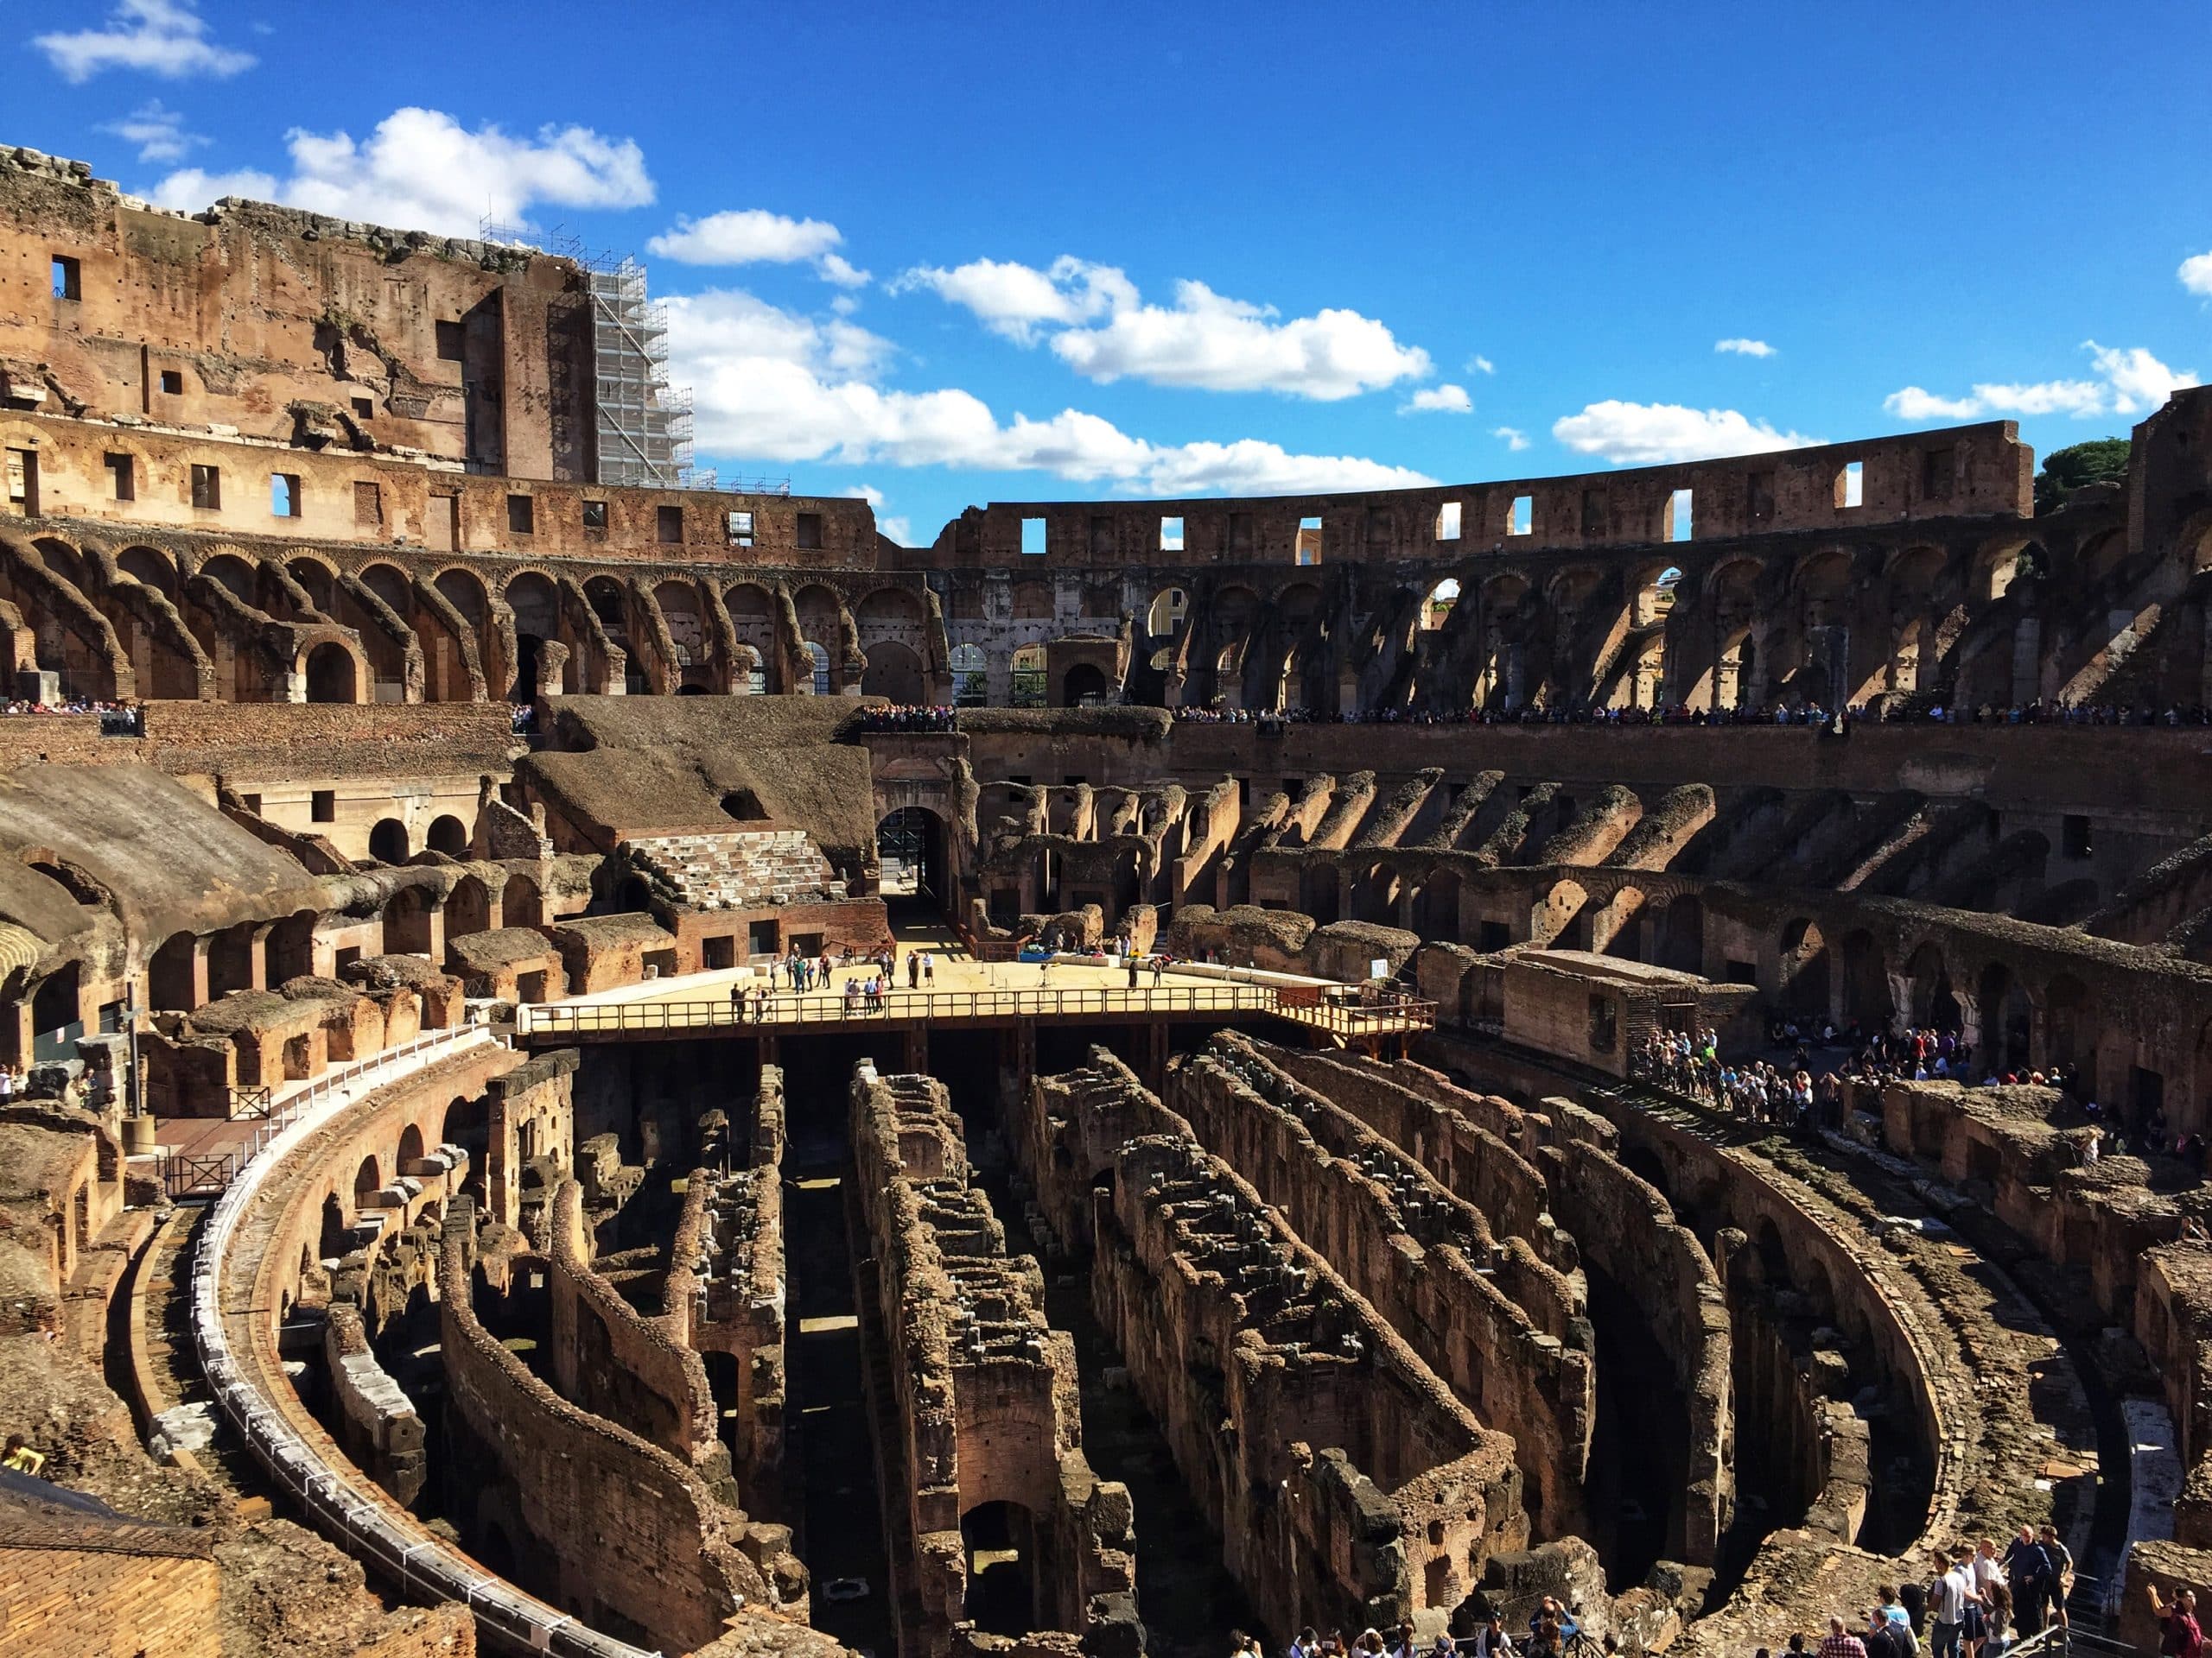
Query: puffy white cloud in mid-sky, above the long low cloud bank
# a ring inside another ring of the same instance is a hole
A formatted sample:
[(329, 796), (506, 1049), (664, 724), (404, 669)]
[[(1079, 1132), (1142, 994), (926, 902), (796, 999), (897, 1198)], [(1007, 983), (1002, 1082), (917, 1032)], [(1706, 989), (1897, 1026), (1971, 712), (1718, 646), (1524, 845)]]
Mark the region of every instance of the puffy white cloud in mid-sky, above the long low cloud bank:
[(909, 270), (894, 290), (927, 287), (1018, 345), (1048, 338), (1086, 380), (1144, 380), (1201, 391), (1285, 391), (1336, 402), (1425, 380), (1433, 365), (1387, 325), (1347, 309), (1281, 321), (1272, 305), (1175, 285), (1175, 305), (1144, 303), (1115, 265), (1062, 254), (1046, 270), (978, 259), (953, 270)]

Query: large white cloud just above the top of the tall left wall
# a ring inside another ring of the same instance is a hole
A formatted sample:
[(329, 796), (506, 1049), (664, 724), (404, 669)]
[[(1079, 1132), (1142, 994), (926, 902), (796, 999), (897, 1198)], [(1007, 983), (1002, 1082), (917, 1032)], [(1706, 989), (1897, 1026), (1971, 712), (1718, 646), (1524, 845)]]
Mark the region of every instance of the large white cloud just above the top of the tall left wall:
[[(347, 133), (285, 135), (292, 175), (173, 172), (148, 195), (166, 208), (204, 208), (215, 195), (259, 195), (288, 208), (363, 219), (394, 230), (473, 237), (484, 217), (522, 223), (533, 206), (641, 208), (653, 201), (644, 150), (633, 139), (588, 126), (542, 126), (513, 137), (498, 126), (473, 133), (451, 115), (398, 108), (367, 141)], [(248, 190), (237, 181), (252, 179)]]

